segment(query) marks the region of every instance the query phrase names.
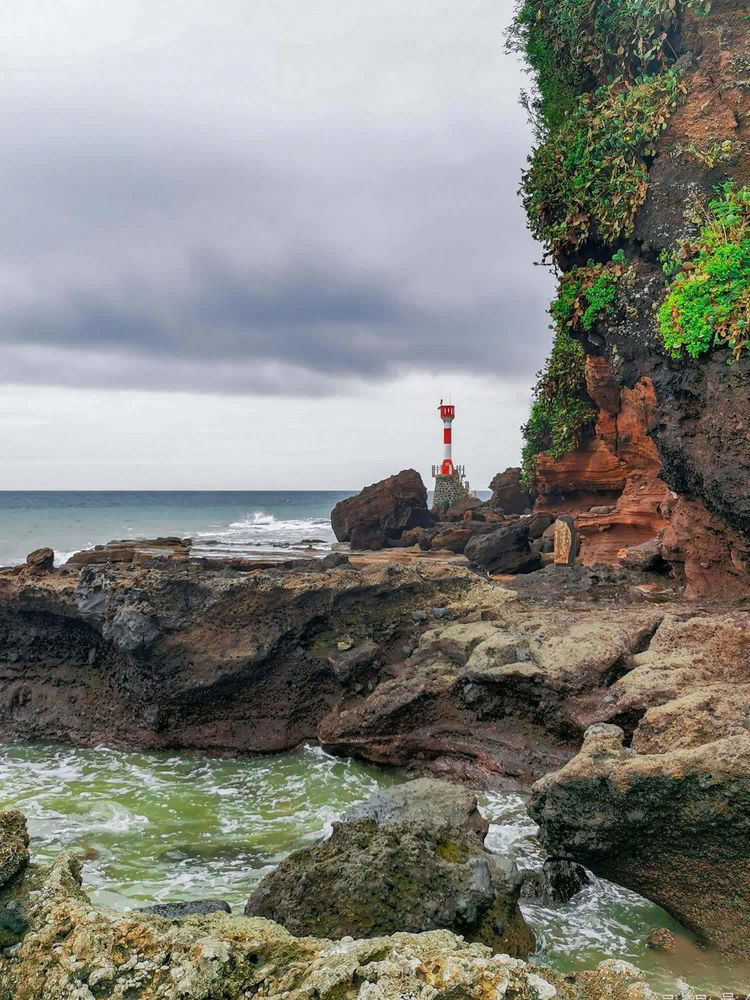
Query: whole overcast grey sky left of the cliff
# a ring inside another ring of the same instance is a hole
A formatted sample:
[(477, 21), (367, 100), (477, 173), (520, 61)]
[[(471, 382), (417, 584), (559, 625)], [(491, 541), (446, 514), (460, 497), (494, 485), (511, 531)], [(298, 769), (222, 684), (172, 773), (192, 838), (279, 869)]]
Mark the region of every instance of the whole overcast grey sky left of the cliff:
[(518, 461), (551, 278), (512, 0), (7, 0), (0, 488)]

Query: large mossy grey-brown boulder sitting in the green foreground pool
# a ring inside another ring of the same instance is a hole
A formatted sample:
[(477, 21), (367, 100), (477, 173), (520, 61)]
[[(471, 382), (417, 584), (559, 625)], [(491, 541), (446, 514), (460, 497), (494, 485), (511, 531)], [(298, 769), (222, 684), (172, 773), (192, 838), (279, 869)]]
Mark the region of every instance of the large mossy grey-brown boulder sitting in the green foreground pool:
[(484, 847), (486, 830), (470, 792), (409, 782), (334, 824), (329, 840), (290, 855), (245, 913), (299, 937), (444, 928), (525, 957), (534, 935), (518, 909), (518, 873)]

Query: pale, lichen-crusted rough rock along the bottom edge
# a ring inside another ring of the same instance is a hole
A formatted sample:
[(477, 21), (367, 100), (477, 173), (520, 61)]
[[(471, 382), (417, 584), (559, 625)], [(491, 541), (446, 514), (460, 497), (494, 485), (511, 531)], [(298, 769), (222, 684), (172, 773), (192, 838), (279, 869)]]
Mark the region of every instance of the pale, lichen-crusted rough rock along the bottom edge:
[[(29, 869), (16, 888), (29, 898), (24, 882), (33, 902), (18, 947), (0, 952), (3, 1000), (655, 1000), (626, 962), (561, 976), (449, 931), (331, 941), (226, 913), (165, 920), (99, 910), (66, 856)], [(8, 902), (0, 889), (0, 905)]]

